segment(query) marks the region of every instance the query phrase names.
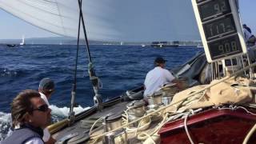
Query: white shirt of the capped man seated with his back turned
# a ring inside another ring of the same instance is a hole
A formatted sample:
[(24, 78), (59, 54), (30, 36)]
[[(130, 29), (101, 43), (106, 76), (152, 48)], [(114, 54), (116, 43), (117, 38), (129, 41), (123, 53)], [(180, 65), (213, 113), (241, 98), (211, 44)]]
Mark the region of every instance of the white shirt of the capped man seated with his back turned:
[(144, 97), (154, 94), (162, 85), (173, 80), (174, 76), (170, 74), (169, 70), (163, 69), (160, 66), (155, 67), (146, 74)]

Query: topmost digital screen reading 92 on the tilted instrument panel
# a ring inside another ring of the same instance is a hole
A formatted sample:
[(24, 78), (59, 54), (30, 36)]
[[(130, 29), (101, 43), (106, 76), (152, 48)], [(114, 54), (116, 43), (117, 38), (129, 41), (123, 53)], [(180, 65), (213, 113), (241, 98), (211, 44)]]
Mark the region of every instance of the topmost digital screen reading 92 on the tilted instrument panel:
[(219, 14), (227, 14), (231, 12), (229, 0), (212, 0), (211, 2), (199, 5), (198, 10), (202, 21)]

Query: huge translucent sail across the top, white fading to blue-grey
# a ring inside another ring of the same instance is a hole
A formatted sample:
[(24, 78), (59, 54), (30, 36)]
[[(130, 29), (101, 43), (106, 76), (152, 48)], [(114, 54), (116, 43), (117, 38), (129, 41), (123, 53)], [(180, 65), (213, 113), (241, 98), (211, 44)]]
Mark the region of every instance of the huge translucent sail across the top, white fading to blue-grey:
[[(77, 0), (0, 0), (0, 8), (55, 34), (77, 37)], [(190, 0), (83, 0), (91, 40), (199, 40)]]

